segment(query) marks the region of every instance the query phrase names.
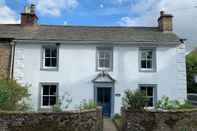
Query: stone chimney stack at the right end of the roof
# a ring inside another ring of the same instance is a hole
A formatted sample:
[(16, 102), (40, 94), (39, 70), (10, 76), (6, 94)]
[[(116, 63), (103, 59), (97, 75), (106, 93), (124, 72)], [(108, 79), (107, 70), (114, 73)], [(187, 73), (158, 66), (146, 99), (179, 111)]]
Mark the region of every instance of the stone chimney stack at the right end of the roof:
[(173, 16), (171, 14), (165, 14), (164, 11), (160, 12), (160, 17), (158, 19), (159, 30), (162, 32), (172, 32), (173, 31)]

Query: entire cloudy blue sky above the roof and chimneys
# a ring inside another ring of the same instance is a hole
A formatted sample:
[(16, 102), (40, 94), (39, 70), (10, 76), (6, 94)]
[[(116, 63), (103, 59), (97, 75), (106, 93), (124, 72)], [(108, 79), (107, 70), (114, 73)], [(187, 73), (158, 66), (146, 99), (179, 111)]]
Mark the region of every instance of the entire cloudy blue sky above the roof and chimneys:
[(27, 3), (40, 24), (157, 26), (159, 12), (174, 15), (174, 32), (197, 46), (197, 0), (0, 0), (0, 24), (20, 23)]

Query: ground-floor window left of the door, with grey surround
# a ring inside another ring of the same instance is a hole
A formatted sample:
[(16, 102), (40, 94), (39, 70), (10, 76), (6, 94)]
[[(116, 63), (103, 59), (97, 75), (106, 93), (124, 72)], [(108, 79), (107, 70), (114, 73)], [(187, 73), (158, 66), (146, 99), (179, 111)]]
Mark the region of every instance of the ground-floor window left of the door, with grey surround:
[(41, 84), (41, 106), (51, 107), (57, 103), (57, 84)]

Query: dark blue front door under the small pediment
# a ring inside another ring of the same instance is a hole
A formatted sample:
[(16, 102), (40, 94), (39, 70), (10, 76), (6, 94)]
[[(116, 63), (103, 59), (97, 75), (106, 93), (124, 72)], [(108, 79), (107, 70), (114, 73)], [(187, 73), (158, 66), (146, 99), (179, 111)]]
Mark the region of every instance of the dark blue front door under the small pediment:
[(103, 115), (111, 115), (111, 88), (97, 88), (97, 103), (102, 106)]

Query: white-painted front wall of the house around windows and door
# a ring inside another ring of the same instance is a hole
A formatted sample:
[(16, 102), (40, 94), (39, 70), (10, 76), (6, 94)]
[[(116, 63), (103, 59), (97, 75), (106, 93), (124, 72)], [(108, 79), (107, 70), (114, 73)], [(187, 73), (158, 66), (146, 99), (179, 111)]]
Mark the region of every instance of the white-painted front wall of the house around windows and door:
[[(71, 108), (83, 99), (94, 99), (92, 79), (96, 72), (96, 45), (65, 45), (59, 48), (59, 71), (41, 71), (41, 44), (16, 43), (14, 77), (31, 85), (32, 104), (37, 109), (40, 82), (58, 82), (59, 95), (69, 92)], [(139, 84), (157, 84), (157, 97), (186, 99), (184, 46), (157, 47), (157, 72), (139, 72), (138, 47), (114, 46), (113, 72), (115, 93), (121, 97), (126, 89), (137, 89)], [(115, 113), (120, 112), (121, 97), (115, 96)]]

